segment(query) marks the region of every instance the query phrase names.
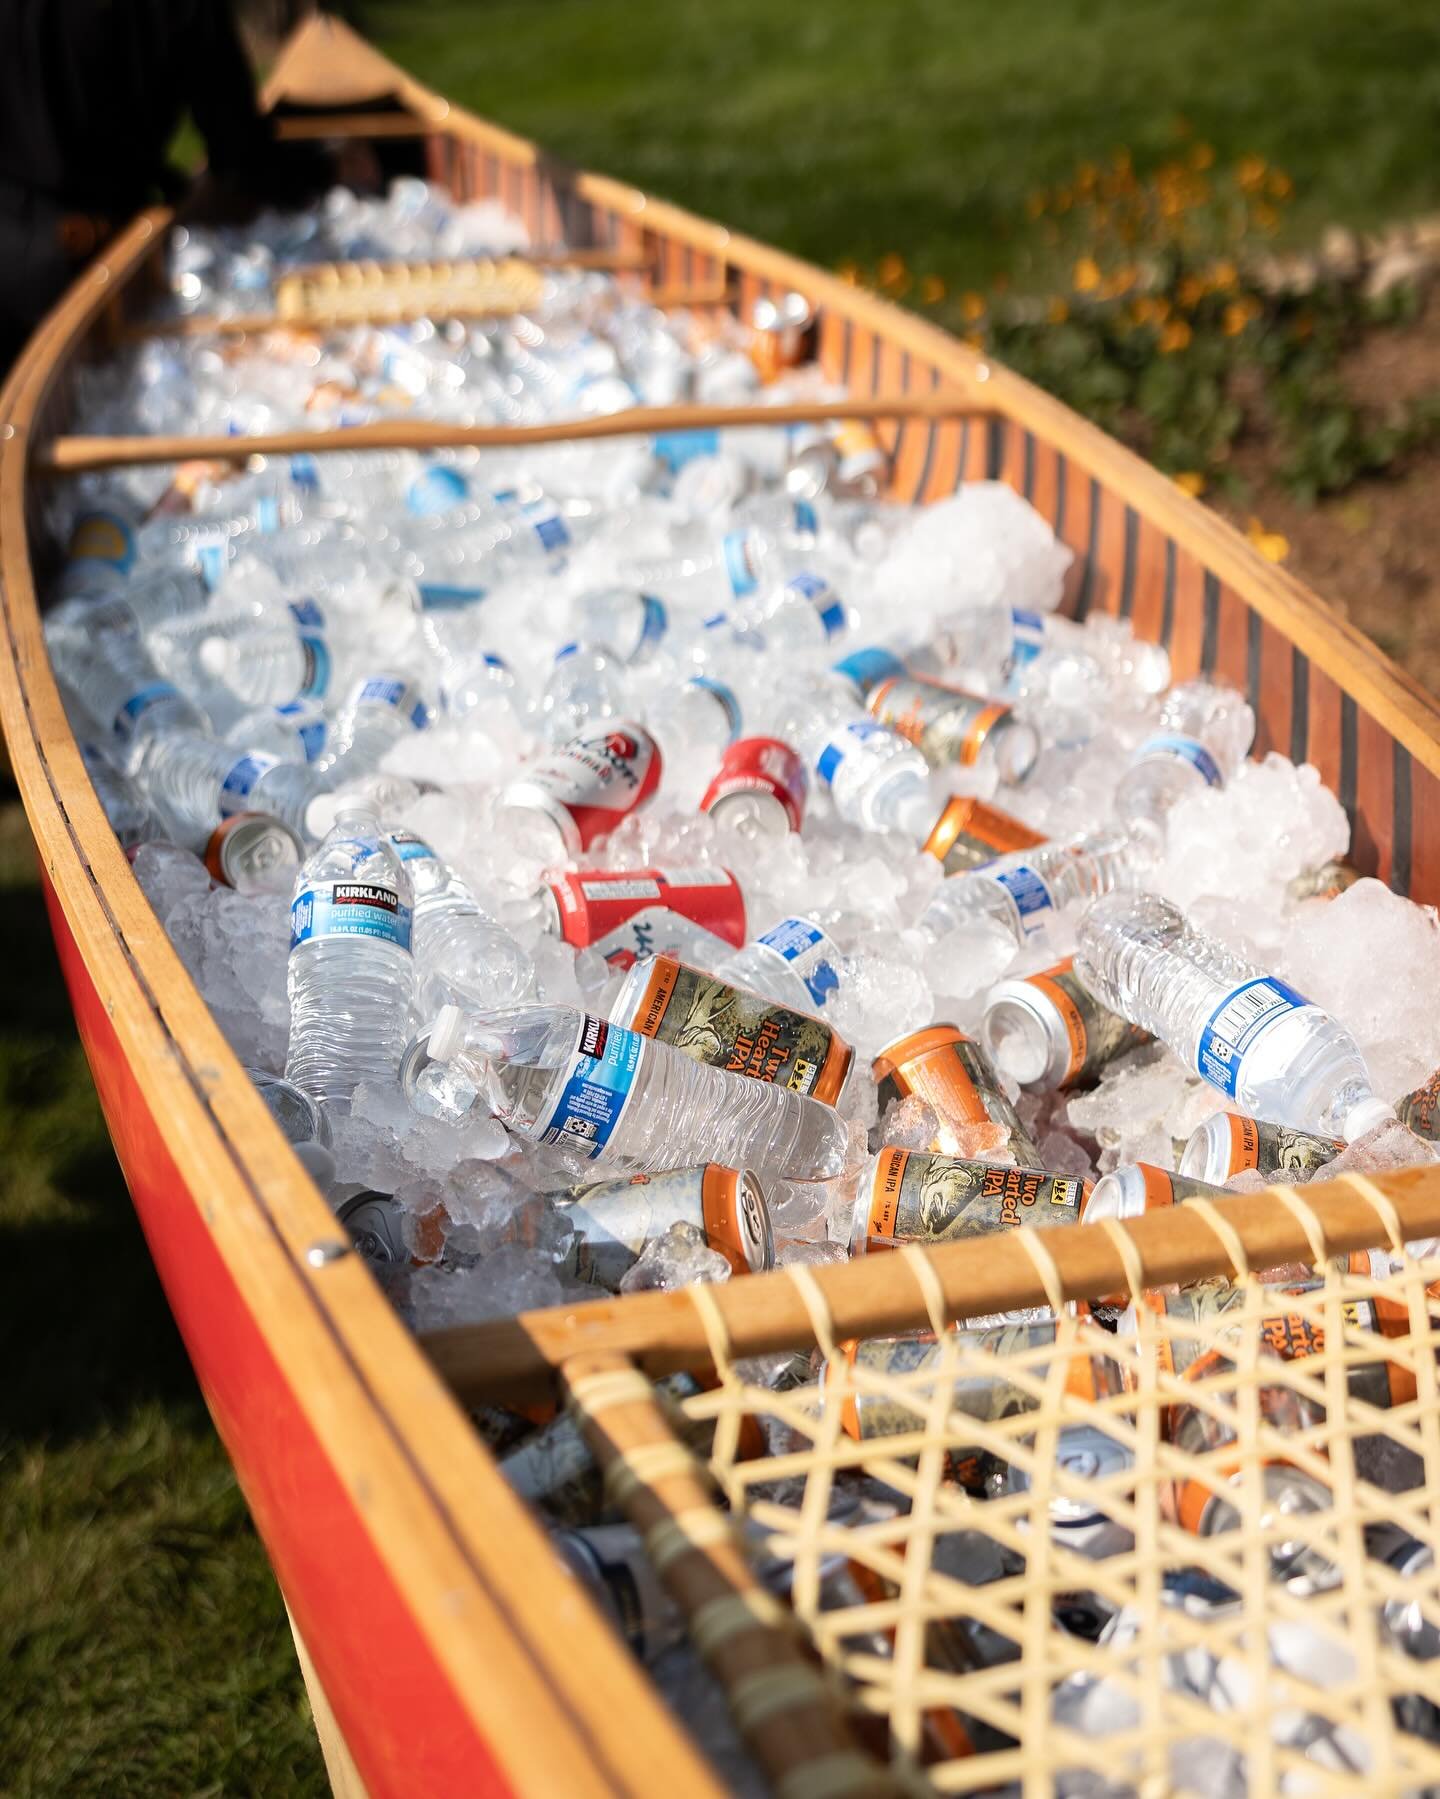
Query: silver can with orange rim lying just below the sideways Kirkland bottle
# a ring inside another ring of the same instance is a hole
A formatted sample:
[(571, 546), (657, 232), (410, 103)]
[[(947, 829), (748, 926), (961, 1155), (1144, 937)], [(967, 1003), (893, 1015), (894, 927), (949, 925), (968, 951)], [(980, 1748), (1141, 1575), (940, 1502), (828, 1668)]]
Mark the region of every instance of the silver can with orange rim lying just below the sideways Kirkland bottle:
[(673, 1225), (704, 1232), (734, 1274), (772, 1268), (776, 1261), (765, 1189), (745, 1168), (675, 1168), (571, 1187), (558, 1198), (574, 1240), (563, 1272), (617, 1292), (646, 1245)]

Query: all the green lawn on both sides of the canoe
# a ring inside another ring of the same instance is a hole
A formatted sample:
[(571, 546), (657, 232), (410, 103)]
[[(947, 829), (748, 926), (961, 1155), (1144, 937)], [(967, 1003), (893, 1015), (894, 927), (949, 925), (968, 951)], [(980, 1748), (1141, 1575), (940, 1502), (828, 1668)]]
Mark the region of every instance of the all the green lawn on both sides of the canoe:
[[(1188, 130), (1287, 169), (1287, 230), (1435, 209), (1420, 0), (371, 0), (371, 36), (571, 160), (821, 263), (1051, 275), (1026, 201)], [(115, 1171), (0, 799), (0, 1786), (319, 1792), (284, 1612)]]

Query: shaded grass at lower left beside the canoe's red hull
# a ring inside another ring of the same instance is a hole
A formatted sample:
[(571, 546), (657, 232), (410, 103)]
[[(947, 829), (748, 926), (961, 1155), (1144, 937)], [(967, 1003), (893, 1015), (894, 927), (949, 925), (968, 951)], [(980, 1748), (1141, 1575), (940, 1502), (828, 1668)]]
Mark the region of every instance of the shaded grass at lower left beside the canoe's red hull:
[(0, 802), (0, 1792), (324, 1792), (290, 1630)]

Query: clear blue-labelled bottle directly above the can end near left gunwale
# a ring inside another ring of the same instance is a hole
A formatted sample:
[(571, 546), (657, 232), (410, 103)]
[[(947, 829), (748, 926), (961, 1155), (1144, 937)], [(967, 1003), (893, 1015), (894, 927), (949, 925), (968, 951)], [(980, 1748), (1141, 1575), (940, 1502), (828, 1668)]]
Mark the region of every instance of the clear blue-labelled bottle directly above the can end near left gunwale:
[(304, 763), (283, 763), (263, 750), (216, 743), (193, 732), (155, 738), (140, 765), (146, 799), (176, 842), (203, 849), (221, 819), (266, 811), (311, 840), (310, 802), (328, 784)]

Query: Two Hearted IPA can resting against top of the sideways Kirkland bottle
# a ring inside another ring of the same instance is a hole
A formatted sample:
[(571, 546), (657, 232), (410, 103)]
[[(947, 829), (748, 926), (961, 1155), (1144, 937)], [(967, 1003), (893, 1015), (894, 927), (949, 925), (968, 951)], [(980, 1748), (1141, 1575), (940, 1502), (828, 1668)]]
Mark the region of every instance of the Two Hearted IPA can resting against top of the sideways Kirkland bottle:
[(788, 1087), (833, 1106), (851, 1047), (810, 1013), (716, 980), (673, 955), (637, 962), (610, 1007), (616, 1024), (727, 1074)]

